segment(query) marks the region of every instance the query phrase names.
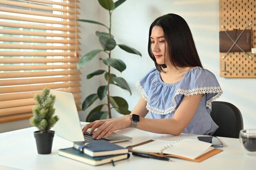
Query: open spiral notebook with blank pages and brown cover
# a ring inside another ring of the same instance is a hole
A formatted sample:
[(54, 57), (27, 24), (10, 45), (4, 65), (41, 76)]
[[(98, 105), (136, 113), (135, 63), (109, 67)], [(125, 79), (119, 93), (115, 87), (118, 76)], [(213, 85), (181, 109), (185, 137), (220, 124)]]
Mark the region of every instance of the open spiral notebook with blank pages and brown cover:
[[(182, 139), (179, 141), (150, 140), (127, 147), (130, 152), (146, 153), (159, 157), (176, 157), (189, 161), (200, 162), (222, 150), (211, 147), (210, 143), (195, 139)], [(159, 154), (162, 152), (162, 154)]]

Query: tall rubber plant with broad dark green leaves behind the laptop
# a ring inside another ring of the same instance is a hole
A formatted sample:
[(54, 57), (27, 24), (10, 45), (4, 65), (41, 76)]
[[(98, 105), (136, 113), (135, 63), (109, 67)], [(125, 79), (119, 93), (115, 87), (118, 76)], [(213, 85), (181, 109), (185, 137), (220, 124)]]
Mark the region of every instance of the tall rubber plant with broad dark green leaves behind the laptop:
[[(106, 26), (105, 24), (102, 24), (100, 22), (93, 21), (93, 20), (84, 20), (84, 19), (77, 20), (77, 21), (81, 21), (81, 22), (99, 24), (101, 26), (106, 27), (106, 29), (108, 30), (108, 32), (96, 31), (96, 35), (99, 37), (99, 42), (101, 44), (102, 49), (94, 49), (94, 50), (86, 53), (85, 55), (83, 55), (83, 57), (81, 57), (81, 59), (79, 60), (79, 62), (77, 64), (77, 68), (80, 69), (85, 64), (88, 64), (88, 62), (90, 62), (90, 60), (92, 60), (97, 54), (99, 54), (101, 52), (104, 52), (107, 54), (106, 59), (99, 58), (99, 60), (101, 60), (107, 66), (107, 70), (97, 70), (97, 71), (94, 71), (87, 75), (87, 79), (90, 79), (90, 78), (94, 77), (95, 75), (102, 75), (103, 73), (105, 73), (104, 77), (107, 81), (106, 85), (99, 86), (97, 93), (93, 93), (93, 94), (89, 95), (83, 101), (82, 109), (86, 110), (97, 99), (103, 100), (105, 97), (107, 97), (106, 104), (101, 104), (90, 111), (90, 113), (88, 114), (88, 116), (86, 118), (86, 121), (88, 121), (88, 122), (92, 122), (94, 120), (99, 120), (99, 119), (111, 118), (111, 109), (112, 108), (114, 108), (115, 110), (117, 110), (117, 112), (119, 112), (123, 115), (130, 114), (130, 111), (128, 110), (128, 104), (124, 98), (117, 97), (117, 96), (110, 96), (109, 87), (111, 84), (115, 85), (115, 86), (119, 86), (119, 87), (123, 88), (124, 90), (129, 91), (130, 94), (132, 94), (130, 91), (130, 87), (128, 86), (128, 83), (126, 82), (126, 80), (124, 78), (117, 77), (115, 74), (110, 73), (111, 67), (117, 69), (120, 72), (122, 72), (126, 69), (126, 64), (122, 60), (115, 59), (115, 58), (111, 57), (111, 51), (116, 46), (119, 46), (121, 49), (123, 49), (124, 51), (126, 51), (128, 53), (133, 53), (133, 54), (137, 54), (137, 55), (141, 56), (141, 53), (139, 53), (139, 51), (137, 51), (127, 45), (124, 45), (124, 44), (117, 44), (117, 42), (114, 39), (114, 36), (111, 33), (112, 12), (115, 9), (117, 9), (117, 7), (119, 7), (119, 5), (121, 5), (126, 0), (118, 0), (115, 3), (113, 2), (113, 0), (98, 0), (98, 1), (99, 1), (99, 4), (101, 5), (101, 7), (103, 7), (104, 9), (106, 9), (108, 11), (109, 26)], [(108, 107), (107, 111), (102, 111), (104, 105), (106, 105)]]

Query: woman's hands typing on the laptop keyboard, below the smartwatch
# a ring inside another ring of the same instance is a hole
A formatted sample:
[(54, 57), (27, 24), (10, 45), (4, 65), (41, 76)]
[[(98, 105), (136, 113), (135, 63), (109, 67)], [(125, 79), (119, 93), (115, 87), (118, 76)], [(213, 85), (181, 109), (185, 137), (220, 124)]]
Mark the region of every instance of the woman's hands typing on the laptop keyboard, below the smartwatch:
[(105, 120), (97, 120), (90, 124), (85, 125), (83, 128), (83, 133), (91, 128), (89, 135), (92, 135), (92, 132), (96, 129), (97, 131), (92, 136), (93, 139), (101, 139), (101, 137), (108, 137), (111, 135), (115, 130), (119, 130), (122, 128), (130, 127), (131, 115), (125, 115), (119, 118), (114, 119), (105, 119)]

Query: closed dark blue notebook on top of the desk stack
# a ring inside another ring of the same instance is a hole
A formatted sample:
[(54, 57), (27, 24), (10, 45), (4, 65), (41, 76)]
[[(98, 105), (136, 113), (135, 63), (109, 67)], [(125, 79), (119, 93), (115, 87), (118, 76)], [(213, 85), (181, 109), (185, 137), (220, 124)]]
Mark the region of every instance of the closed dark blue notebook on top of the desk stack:
[(77, 141), (74, 142), (73, 147), (78, 150), (79, 146), (85, 146), (85, 143), (88, 144), (81, 151), (87, 155), (90, 155), (91, 157), (128, 153), (128, 149), (103, 140), (95, 140), (90, 142)]

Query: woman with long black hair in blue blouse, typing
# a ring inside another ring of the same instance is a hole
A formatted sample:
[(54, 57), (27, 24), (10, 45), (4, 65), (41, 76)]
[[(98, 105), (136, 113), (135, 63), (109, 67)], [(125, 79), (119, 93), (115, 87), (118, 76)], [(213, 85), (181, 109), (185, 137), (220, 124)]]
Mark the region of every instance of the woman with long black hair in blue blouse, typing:
[[(94, 139), (108, 137), (115, 130), (136, 127), (154, 133), (211, 135), (218, 126), (210, 116), (211, 102), (222, 90), (216, 77), (202, 68), (191, 31), (176, 14), (157, 18), (150, 26), (148, 54), (155, 67), (136, 86), (141, 93), (130, 115), (94, 121)], [(151, 119), (144, 118), (150, 113)]]

